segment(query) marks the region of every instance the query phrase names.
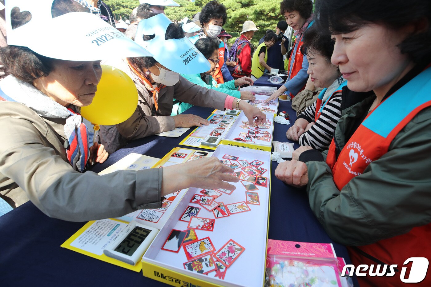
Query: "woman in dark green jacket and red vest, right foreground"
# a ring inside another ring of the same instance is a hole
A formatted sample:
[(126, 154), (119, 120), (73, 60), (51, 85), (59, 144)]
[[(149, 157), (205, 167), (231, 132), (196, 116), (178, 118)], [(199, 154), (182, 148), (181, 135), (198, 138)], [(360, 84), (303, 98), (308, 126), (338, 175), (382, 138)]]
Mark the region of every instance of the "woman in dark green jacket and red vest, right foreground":
[[(431, 260), (431, 2), (319, 0), (316, 14), (335, 41), (346, 98), (365, 99), (343, 111), (323, 156), (307, 150), (275, 175), (306, 186), (355, 266), (397, 265), (391, 277), (358, 277), (361, 286), (400, 286), (406, 259)], [(421, 286), (431, 286), (430, 270), (423, 281), (415, 274)]]

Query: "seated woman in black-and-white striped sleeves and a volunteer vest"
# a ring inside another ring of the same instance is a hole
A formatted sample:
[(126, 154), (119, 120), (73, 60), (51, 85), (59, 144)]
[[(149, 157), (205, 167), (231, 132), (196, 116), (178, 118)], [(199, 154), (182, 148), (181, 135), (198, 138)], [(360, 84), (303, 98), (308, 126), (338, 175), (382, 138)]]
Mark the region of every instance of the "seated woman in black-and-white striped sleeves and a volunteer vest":
[(316, 27), (304, 32), (302, 52), (307, 56), (308, 74), (316, 87), (324, 88), (317, 100), (298, 115), (286, 133), (299, 141), (301, 150), (327, 150), (341, 116), (341, 92), (347, 85), (337, 66), (331, 63), (334, 41)]

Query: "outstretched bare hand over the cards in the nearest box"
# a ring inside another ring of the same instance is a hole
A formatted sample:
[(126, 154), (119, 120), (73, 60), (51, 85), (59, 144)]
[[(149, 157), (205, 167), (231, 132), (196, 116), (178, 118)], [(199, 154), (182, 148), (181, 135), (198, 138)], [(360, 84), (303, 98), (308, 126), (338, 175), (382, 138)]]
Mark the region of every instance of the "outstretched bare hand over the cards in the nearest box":
[(228, 182), (238, 182), (239, 178), (230, 175), (233, 172), (215, 157), (163, 167), (162, 196), (188, 187), (234, 190)]

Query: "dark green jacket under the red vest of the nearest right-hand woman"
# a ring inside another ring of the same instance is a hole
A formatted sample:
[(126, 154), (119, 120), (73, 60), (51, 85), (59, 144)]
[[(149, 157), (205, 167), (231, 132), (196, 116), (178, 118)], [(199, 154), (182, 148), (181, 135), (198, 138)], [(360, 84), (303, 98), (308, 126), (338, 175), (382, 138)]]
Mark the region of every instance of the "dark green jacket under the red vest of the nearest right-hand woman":
[[(342, 111), (334, 133), (340, 149), (354, 118), (368, 112), (374, 99)], [(326, 157), (327, 151), (322, 154)], [(362, 246), (407, 233), (431, 222), (430, 158), (431, 108), (426, 108), (400, 131), (384, 156), (341, 192), (326, 162), (306, 162), (311, 209), (329, 236), (344, 245)]]

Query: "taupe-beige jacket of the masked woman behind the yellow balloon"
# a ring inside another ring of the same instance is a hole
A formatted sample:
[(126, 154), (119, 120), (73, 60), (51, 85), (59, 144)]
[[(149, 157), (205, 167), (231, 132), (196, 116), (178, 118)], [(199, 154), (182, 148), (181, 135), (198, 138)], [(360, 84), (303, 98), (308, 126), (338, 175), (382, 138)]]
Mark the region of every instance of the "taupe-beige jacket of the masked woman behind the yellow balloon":
[(124, 147), (130, 140), (163, 131), (172, 131), (175, 128), (175, 121), (171, 116), (174, 98), (195, 106), (225, 109), (227, 94), (198, 86), (180, 76), (180, 81), (177, 84), (160, 90), (157, 101), (159, 109), (155, 112), (155, 109), (153, 110), (153, 93), (148, 92), (145, 86), (141, 84), (125, 59), (104, 61), (103, 64), (114, 66), (129, 75), (134, 81), (139, 95), (136, 110), (128, 120), (119, 125), (100, 127), (100, 140), (108, 153), (113, 153)]

